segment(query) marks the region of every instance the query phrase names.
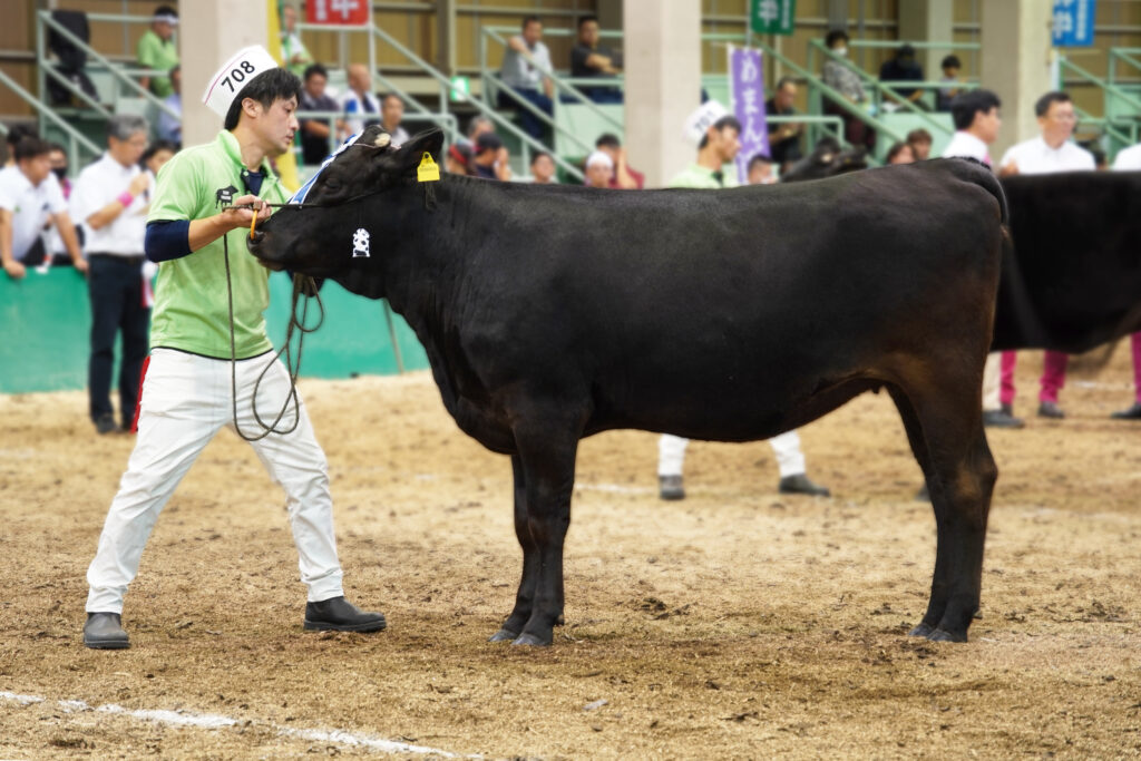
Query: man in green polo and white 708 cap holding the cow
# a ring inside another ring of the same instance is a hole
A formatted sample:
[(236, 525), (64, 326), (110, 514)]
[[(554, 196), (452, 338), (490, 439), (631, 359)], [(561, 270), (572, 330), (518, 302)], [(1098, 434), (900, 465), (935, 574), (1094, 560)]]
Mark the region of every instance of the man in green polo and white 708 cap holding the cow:
[[(145, 246), (147, 257), (160, 262), (152, 351), (143, 371), (138, 442), (88, 569), (88, 647), (128, 647), (121, 621), (127, 586), (159, 512), (199, 453), (222, 427), (243, 437), (261, 432), (258, 415), (275, 420), (290, 398), (289, 373), (273, 355), (262, 317), (268, 272), (248, 253), (244, 237), (254, 213), (269, 216), (265, 202), (285, 201), (269, 159), (292, 145), (300, 91), (298, 79), (278, 68), (265, 49), (238, 51), (215, 75), (205, 98), (225, 115), (225, 129), (159, 172)], [(298, 399), (296, 412), (291, 408), (274, 431), (251, 443), (285, 489), (301, 581), (308, 586), (305, 629), (385, 629), (383, 615), (362, 612), (343, 597), (325, 455), (305, 405)]]

